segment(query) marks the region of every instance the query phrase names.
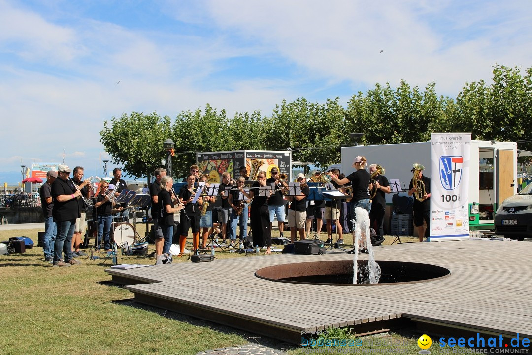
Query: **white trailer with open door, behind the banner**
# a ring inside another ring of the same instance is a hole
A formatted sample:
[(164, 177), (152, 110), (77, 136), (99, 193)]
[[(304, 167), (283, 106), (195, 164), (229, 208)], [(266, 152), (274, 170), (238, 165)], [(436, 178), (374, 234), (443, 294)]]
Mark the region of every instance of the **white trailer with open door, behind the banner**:
[[(388, 180), (398, 179), (404, 183), (406, 189), (413, 176), (410, 171), (413, 163), (425, 166), (423, 175), (431, 179), (438, 178), (438, 174), (431, 176), (430, 142), (343, 147), (342, 172), (345, 175), (354, 171), (352, 164), (358, 155), (368, 159), (368, 166), (372, 163), (382, 166)], [(478, 165), (475, 166), (474, 162), (478, 162)], [(517, 193), (516, 179), (516, 143), (471, 140), (470, 230), (494, 230), (495, 210), (506, 197)], [(399, 194), (408, 196), (406, 192)], [(393, 193), (390, 193), (386, 197), (387, 216), (393, 209), (392, 195)], [(389, 233), (389, 230), (387, 232)]]

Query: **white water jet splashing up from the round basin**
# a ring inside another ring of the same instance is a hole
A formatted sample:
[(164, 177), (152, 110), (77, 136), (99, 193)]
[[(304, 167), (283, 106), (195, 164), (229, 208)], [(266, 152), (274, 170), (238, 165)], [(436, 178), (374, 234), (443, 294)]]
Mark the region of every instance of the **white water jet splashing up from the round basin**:
[(358, 276), (358, 250), (359, 243), (368, 250), (369, 261), (368, 265), (361, 267), (361, 283), (376, 284), (380, 279), (380, 266), (375, 262), (375, 252), (371, 244), (371, 234), (369, 230), (370, 220), (368, 211), (362, 207), (355, 208), (356, 224), (355, 224), (355, 257), (353, 258), (353, 283), (356, 284)]

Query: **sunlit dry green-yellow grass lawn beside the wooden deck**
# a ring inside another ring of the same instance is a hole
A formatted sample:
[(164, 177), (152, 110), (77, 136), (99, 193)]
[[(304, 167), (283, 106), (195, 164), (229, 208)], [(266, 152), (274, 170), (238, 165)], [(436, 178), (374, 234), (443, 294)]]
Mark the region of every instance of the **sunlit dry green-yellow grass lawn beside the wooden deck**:
[[(39, 231), (0, 231), (0, 241), (11, 236), (28, 236), (37, 245)], [(274, 234), (278, 235), (277, 230)], [(321, 237), (326, 238), (323, 233)], [(417, 240), (402, 238), (409, 239)], [(352, 243), (351, 235), (346, 235), (345, 241)], [(385, 243), (392, 241), (393, 237), (388, 236)], [(216, 256), (225, 259), (242, 255), (217, 252)], [(118, 258), (119, 263), (155, 262), (142, 256)], [(251, 336), (228, 327), (211, 327), (204, 321), (173, 312), (162, 316), (162, 309), (130, 301), (132, 293), (110, 282), (111, 276), (104, 273), (111, 265), (110, 260), (106, 265), (102, 259), (78, 260), (82, 265), (52, 267), (44, 261), (42, 249), (37, 246), (26, 254), (0, 256), (1, 354), (195, 354), (244, 344), (248, 342), (246, 337)], [(174, 262), (187, 261), (174, 258)], [(408, 342), (413, 350), (417, 348), (411, 353), (419, 351), (417, 340), (393, 337)], [(271, 341), (257, 340), (262, 344)], [(286, 346), (272, 344), (275, 345)], [(289, 353), (302, 354), (306, 350), (292, 347)], [(330, 351), (337, 352), (332, 348)]]

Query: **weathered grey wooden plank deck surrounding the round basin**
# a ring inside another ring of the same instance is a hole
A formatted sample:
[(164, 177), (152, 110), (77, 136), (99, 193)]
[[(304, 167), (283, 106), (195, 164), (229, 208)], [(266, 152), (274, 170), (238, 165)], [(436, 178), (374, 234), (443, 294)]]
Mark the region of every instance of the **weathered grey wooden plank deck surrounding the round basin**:
[[(135, 299), (298, 343), (302, 332), (354, 326), (363, 333), (412, 320), (467, 332), (532, 337), (531, 242), (490, 240), (379, 246), (377, 260), (424, 262), (451, 270), (444, 279), (393, 286), (318, 286), (272, 282), (255, 270), (281, 263), (348, 260), (353, 255), (254, 255), (206, 263), (107, 269)], [(359, 255), (367, 259), (368, 255)]]

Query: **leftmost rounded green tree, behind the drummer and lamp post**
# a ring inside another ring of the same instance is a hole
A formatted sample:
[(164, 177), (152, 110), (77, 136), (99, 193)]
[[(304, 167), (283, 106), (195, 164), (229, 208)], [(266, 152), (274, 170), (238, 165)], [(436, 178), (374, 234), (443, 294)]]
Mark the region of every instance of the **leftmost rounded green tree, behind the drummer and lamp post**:
[(128, 175), (149, 177), (165, 156), (163, 141), (170, 136), (170, 118), (156, 112), (124, 113), (105, 120), (100, 136), (113, 163), (122, 165)]

